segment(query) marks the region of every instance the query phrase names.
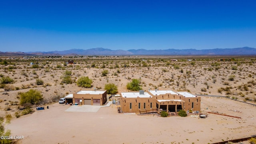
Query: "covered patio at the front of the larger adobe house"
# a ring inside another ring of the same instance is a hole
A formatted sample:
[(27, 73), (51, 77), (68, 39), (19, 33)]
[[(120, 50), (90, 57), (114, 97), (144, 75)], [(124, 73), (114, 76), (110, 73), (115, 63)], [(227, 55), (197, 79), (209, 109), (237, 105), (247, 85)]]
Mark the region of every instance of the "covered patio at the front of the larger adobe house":
[(185, 110), (184, 100), (156, 100), (156, 108), (158, 108), (158, 114), (162, 111), (166, 111), (168, 114), (171, 112), (179, 112)]

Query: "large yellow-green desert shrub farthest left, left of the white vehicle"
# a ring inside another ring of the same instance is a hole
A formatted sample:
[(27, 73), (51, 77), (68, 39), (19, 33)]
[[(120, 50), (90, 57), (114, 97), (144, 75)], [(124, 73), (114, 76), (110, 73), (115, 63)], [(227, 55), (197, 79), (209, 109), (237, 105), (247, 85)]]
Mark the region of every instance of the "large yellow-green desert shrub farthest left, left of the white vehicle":
[(20, 104), (38, 104), (43, 100), (43, 96), (39, 90), (29, 90), (28, 92), (21, 92), (20, 94)]

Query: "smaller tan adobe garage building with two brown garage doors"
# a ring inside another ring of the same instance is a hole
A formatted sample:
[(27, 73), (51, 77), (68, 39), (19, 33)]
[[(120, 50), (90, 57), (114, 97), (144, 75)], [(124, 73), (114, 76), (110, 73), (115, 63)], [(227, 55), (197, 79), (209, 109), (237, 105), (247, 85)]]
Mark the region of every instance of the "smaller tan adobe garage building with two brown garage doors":
[(107, 101), (107, 91), (79, 90), (73, 94), (73, 104), (102, 106)]

